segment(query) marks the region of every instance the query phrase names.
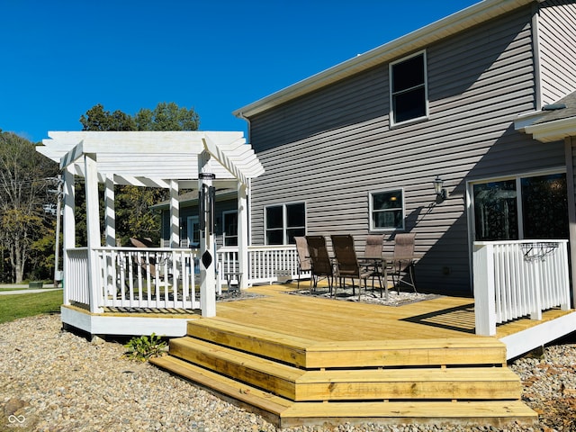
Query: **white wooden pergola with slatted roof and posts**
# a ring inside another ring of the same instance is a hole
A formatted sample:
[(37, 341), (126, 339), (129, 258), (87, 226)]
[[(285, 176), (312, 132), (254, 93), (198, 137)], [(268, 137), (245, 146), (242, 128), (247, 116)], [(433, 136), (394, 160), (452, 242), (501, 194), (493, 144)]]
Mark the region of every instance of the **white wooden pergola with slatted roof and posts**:
[[(238, 190), (238, 266), (247, 275), (247, 197), (250, 179), (264, 173), (254, 150), (238, 131), (52, 131), (37, 150), (58, 162), (64, 176), (64, 266), (75, 247), (74, 177), (85, 177), (87, 247), (114, 247), (114, 184), (170, 191), (171, 247), (179, 247), (180, 189), (202, 184)], [(202, 174), (211, 174), (202, 180)], [(105, 184), (105, 245), (101, 244), (98, 183)], [(214, 257), (213, 238), (201, 254)], [(89, 254), (92, 256), (93, 254)], [(89, 258), (90, 259), (90, 258)], [(213, 261), (213, 260), (212, 260)], [(95, 259), (90, 274), (97, 274)], [(89, 275), (90, 279), (90, 275)], [(214, 272), (201, 266), (202, 315), (215, 315)], [(243, 278), (242, 284), (247, 284)], [(91, 284), (90, 280), (88, 284)], [(246, 288), (246, 286), (241, 286)]]

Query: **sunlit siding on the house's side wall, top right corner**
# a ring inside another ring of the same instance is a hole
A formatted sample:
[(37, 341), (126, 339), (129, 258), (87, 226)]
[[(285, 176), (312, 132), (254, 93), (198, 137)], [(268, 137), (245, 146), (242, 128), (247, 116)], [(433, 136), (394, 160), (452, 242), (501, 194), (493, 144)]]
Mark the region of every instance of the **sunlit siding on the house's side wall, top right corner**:
[(548, 0), (538, 19), (543, 103), (576, 90), (576, 3)]

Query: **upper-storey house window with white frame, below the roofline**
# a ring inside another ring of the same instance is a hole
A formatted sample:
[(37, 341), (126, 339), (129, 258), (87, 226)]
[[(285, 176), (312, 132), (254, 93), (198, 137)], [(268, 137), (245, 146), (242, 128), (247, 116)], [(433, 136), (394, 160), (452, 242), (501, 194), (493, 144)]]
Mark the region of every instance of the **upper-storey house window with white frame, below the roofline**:
[(426, 53), (390, 65), (392, 124), (428, 115)]

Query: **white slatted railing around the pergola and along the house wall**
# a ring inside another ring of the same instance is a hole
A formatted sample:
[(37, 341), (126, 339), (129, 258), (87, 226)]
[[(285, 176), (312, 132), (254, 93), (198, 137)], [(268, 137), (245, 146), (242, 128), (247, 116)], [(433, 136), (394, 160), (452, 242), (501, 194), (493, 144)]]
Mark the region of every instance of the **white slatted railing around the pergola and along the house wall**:
[[(97, 247), (93, 251), (99, 272), (94, 277), (95, 308), (200, 309), (198, 250), (169, 247)], [(217, 293), (227, 273), (238, 273), (238, 247), (220, 247)], [(67, 250), (65, 304), (90, 306), (88, 249)], [(273, 284), (298, 277), (293, 246), (248, 247), (247, 285)], [(310, 277), (302, 273), (301, 277)], [(94, 306), (94, 305), (93, 305)], [(91, 310), (93, 310), (91, 308)]]

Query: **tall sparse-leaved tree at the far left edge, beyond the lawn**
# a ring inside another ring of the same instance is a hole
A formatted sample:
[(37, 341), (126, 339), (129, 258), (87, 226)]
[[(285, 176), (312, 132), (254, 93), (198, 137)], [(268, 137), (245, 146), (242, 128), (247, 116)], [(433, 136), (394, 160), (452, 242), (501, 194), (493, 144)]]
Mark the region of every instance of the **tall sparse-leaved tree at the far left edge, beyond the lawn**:
[(28, 139), (0, 131), (0, 242), (16, 284), (23, 282), (34, 242), (52, 229), (44, 205), (56, 200), (47, 192), (57, 173)]

